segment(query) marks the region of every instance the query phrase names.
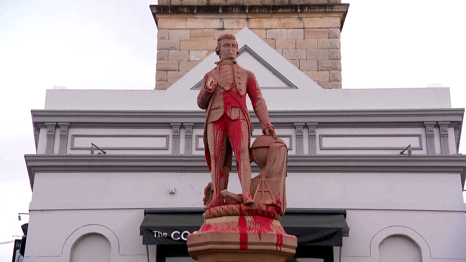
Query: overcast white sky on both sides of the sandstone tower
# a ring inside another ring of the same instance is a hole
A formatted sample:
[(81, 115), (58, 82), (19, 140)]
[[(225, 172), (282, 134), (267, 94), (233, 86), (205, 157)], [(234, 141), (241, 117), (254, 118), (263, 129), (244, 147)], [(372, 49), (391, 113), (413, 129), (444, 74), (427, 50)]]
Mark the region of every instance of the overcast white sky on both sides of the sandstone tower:
[[(453, 108), (466, 107), (466, 1), (343, 2), (350, 4), (342, 32), (343, 88), (441, 83), (451, 89)], [(30, 110), (43, 109), (45, 90), (54, 85), (153, 89), (157, 27), (149, 5), (156, 3), (0, 0), (0, 242), (22, 235), (28, 219), (18, 221), (31, 200), (23, 156), (35, 153)], [(0, 261), (12, 252), (13, 244), (0, 245)]]

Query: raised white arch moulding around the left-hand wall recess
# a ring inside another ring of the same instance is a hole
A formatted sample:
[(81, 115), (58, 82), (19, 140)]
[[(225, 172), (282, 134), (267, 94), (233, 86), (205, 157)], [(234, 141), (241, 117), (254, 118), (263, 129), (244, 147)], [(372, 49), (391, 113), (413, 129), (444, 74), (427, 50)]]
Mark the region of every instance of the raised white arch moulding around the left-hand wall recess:
[(115, 235), (115, 233), (113, 233), (113, 231), (107, 227), (91, 224), (82, 226), (69, 235), (62, 248), (62, 257), (64, 258), (63, 261), (70, 261), (73, 245), (83, 236), (87, 236), (89, 234), (100, 234), (107, 238), (107, 240), (110, 242), (110, 261), (115, 261), (117, 259), (117, 256), (120, 253), (120, 243), (118, 241), (117, 235)]

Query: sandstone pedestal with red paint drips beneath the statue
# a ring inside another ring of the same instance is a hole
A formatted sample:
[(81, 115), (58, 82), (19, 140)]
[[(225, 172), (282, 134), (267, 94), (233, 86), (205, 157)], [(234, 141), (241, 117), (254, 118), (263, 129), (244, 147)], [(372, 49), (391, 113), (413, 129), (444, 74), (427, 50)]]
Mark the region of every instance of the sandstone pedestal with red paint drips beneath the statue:
[(280, 221), (260, 216), (206, 219), (189, 234), (188, 251), (199, 262), (286, 262), (295, 255), (297, 238)]

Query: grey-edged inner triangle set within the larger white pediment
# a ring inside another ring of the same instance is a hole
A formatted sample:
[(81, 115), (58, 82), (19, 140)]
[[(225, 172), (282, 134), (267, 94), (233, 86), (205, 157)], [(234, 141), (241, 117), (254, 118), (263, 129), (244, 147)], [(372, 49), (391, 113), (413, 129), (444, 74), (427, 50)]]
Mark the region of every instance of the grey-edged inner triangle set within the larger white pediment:
[[(285, 76), (281, 75), (262, 57), (257, 55), (251, 48), (244, 45), (240, 48), (239, 54), (236, 56), (236, 61), (245, 69), (254, 71), (260, 89), (295, 89), (297, 88)], [(193, 86), (192, 90), (200, 90), (202, 79)]]

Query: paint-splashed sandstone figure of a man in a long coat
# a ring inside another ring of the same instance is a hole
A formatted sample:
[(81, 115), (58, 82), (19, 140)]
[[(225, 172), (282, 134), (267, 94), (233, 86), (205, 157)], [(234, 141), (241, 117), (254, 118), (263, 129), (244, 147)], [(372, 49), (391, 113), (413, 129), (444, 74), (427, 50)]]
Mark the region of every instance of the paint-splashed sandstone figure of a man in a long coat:
[(204, 209), (225, 204), (220, 192), (228, 184), (233, 152), (236, 157), (242, 198), (245, 204), (254, 203), (250, 193), (251, 162), (249, 147), (252, 125), (246, 106), (246, 94), (265, 135), (275, 137), (267, 105), (254, 73), (236, 62), (238, 43), (233, 34), (223, 34), (217, 41), (215, 52), (220, 61), (204, 76), (198, 95), (199, 108), (206, 110), (204, 148), (211, 171), (213, 197)]

